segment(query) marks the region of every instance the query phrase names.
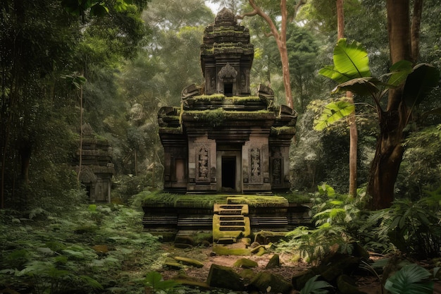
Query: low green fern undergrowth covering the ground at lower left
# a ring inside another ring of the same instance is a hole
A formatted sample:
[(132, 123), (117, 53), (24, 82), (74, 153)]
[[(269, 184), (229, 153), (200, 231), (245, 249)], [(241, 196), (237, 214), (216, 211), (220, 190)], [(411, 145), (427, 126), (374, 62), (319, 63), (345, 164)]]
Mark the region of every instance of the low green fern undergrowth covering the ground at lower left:
[[(30, 212), (0, 211), (0, 285), (26, 293), (143, 293), (142, 271), (161, 260), (156, 237), (142, 232), (142, 212), (120, 204), (66, 203)], [(159, 267), (156, 264), (156, 267)]]

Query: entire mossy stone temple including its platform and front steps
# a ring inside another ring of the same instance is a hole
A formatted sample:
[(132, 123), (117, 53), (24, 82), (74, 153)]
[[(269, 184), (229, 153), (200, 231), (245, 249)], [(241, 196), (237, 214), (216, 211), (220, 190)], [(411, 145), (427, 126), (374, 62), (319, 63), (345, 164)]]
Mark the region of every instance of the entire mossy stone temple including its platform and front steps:
[(144, 195), (144, 229), (175, 244), (198, 233), (228, 244), (307, 225), (309, 207), (282, 196), (297, 115), (274, 105), (270, 87), (251, 94), (249, 30), (223, 8), (200, 50), (204, 85), (189, 85), (179, 107), (159, 110), (164, 191)]

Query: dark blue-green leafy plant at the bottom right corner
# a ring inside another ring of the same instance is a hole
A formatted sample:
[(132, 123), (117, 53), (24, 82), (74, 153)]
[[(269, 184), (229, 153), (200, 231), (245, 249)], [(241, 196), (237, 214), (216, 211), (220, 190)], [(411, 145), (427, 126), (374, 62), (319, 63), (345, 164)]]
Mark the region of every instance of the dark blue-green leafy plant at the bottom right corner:
[(385, 289), (392, 294), (430, 294), (433, 293), (433, 281), (428, 281), (429, 277), (427, 269), (407, 264), (387, 278)]

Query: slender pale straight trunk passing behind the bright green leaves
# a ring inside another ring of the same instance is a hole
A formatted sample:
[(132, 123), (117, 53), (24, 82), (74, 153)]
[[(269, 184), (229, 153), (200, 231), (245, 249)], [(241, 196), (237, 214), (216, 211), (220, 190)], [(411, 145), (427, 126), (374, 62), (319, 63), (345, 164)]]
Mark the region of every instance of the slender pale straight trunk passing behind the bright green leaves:
[[(335, 2), (337, 6), (337, 40), (344, 38), (344, 10), (343, 0)], [(354, 95), (352, 92), (346, 92), (347, 102), (354, 104)], [(356, 158), (359, 134), (356, 129), (355, 110), (349, 114), (349, 195), (356, 196)]]

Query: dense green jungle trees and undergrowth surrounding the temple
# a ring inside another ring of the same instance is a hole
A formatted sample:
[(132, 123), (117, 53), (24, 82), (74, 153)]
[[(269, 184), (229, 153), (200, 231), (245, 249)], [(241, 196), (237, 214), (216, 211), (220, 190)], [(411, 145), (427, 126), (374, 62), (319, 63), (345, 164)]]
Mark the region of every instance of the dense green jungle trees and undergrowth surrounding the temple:
[[(254, 3), (212, 2), (237, 15)], [(280, 27), (279, 1), (255, 2)], [(392, 66), (386, 9), (385, 1), (344, 1), (344, 37), (366, 49), (373, 77)], [(0, 290), (69, 293), (69, 281), (84, 293), (138, 293), (147, 283), (144, 271), (155, 269), (160, 258), (158, 239), (142, 233), (140, 223), (144, 195), (162, 188), (157, 113), (161, 106), (179, 106), (182, 89), (204, 81), (199, 47), (215, 13), (202, 0), (4, 0), (0, 10)], [(423, 1), (415, 64), (441, 68), (440, 13), (439, 1)], [(358, 189), (348, 196), (347, 119), (314, 130), (325, 106), (344, 96), (331, 94), (337, 82), (318, 73), (333, 64), (335, 1), (287, 1), (287, 16), (290, 93), (298, 114), (290, 192), (311, 198), (317, 226), (330, 225), (309, 247), (326, 250), (350, 239), (375, 252), (440, 257), (439, 81), (407, 116), (395, 202), (368, 218), (366, 189), (382, 130), (378, 105), (354, 95)], [(271, 85), (275, 104), (286, 104), (280, 52), (268, 24), (259, 16), (240, 21), (255, 50), (251, 92), (259, 83)], [(89, 205), (74, 169), (84, 124), (112, 147), (107, 206)], [(300, 246), (298, 235), (281, 250)], [(119, 249), (106, 248), (101, 258), (93, 247), (108, 240)], [(320, 259), (318, 252), (309, 251), (311, 260)]]

